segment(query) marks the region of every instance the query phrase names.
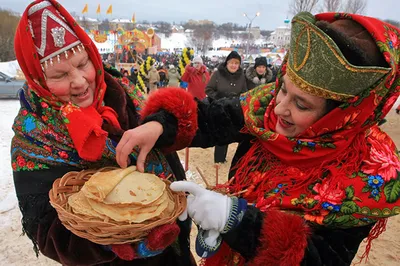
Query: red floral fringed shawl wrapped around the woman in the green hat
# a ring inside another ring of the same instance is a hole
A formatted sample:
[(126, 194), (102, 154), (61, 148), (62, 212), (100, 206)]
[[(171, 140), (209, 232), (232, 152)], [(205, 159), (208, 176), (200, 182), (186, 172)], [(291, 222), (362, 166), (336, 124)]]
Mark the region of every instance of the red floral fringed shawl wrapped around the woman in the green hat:
[[(301, 136), (275, 133), (277, 82), (242, 95), (245, 133), (257, 137), (237, 164), (231, 193), (254, 202), (261, 211), (289, 210), (309, 223), (350, 228), (376, 222), (370, 240), (384, 231), (386, 219), (400, 213), (400, 161), (395, 144), (377, 123), (399, 96), (399, 30), (374, 18), (325, 13), (317, 20), (353, 19), (376, 40), (392, 71), (375, 87), (334, 109)], [(265, 112), (260, 112), (265, 110)], [(260, 115), (264, 113), (264, 115)], [(203, 265), (243, 265), (226, 247)], [(251, 264), (251, 263), (250, 263)]]

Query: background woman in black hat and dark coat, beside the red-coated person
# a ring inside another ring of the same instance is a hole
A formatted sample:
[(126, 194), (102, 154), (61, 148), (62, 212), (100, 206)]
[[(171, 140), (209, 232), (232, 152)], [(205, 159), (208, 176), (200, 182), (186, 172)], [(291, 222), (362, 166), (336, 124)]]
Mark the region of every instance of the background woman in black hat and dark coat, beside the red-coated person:
[[(206, 94), (212, 100), (225, 97), (237, 97), (247, 91), (246, 78), (240, 64), (242, 59), (236, 51), (232, 51), (223, 64), (217, 67), (206, 87)], [(225, 163), (228, 145), (216, 145), (214, 163)]]

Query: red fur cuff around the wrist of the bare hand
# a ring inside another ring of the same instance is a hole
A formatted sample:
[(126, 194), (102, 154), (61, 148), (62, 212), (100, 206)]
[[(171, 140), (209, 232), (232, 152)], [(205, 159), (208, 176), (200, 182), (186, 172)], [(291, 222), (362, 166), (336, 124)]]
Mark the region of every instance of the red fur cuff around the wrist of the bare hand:
[(178, 132), (175, 143), (163, 149), (172, 152), (187, 147), (198, 128), (197, 103), (193, 96), (181, 88), (164, 88), (153, 92), (141, 111), (141, 117), (145, 118), (160, 109), (171, 113), (178, 120)]

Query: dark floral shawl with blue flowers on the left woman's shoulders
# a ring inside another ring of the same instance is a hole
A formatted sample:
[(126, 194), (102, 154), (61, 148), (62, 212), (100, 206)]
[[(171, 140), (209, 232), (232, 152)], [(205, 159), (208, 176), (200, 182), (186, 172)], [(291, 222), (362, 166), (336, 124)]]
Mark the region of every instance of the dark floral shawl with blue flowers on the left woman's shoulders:
[[(115, 78), (139, 112), (143, 96), (128, 79)], [(52, 108), (45, 100), (25, 85), (20, 94), (21, 108), (15, 118), (15, 136), (11, 145), (12, 168), (14, 171), (35, 171), (53, 166), (72, 166), (81, 169), (117, 166), (116, 142), (107, 138), (101, 158), (96, 162), (82, 159), (75, 149), (63, 120), (62, 111)], [(138, 151), (131, 154), (136, 161)], [(152, 150), (146, 160), (146, 171), (167, 177), (172, 171), (161, 152)], [(56, 177), (55, 177), (56, 178)]]

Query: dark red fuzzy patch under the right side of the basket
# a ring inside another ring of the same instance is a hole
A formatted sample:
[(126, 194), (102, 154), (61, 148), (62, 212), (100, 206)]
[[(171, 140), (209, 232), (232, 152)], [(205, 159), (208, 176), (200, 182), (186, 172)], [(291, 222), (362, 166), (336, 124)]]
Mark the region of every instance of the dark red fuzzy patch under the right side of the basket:
[(180, 228), (176, 223), (158, 226), (147, 236), (147, 247), (152, 251), (165, 249), (174, 243), (179, 232)]

